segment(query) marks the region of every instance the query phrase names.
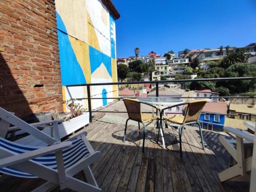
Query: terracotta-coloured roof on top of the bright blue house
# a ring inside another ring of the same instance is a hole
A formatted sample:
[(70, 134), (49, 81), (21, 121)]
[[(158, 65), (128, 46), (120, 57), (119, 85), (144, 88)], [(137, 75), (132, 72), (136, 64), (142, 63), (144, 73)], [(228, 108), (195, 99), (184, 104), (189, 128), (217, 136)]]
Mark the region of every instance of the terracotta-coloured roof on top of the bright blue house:
[(227, 114), (227, 103), (225, 103), (225, 102), (207, 102), (204, 105), (203, 112)]

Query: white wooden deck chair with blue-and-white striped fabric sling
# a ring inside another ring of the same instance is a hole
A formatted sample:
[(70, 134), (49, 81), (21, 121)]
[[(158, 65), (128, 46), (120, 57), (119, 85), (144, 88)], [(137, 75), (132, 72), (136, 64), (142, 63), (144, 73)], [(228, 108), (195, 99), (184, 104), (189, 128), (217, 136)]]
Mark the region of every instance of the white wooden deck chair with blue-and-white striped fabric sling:
[[(2, 108), (0, 118), (2, 123), (5, 122), (3, 124), (11, 123), (51, 145), (28, 146), (0, 137), (1, 173), (24, 178), (38, 177), (48, 181), (34, 191), (46, 191), (56, 185), (60, 185), (60, 189), (101, 191), (90, 169), (90, 165), (100, 159), (101, 153), (93, 150), (86, 132), (60, 143), (58, 139), (40, 132)], [(0, 123), (0, 126), (3, 124)], [(87, 182), (73, 177), (81, 170)]]

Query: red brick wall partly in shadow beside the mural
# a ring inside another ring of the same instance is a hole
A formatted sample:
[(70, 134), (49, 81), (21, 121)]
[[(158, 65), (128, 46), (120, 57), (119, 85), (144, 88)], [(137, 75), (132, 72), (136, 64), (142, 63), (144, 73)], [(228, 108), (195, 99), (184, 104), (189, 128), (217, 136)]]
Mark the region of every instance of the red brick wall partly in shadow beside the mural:
[(0, 106), (19, 117), (63, 111), (56, 28), (52, 0), (0, 1)]

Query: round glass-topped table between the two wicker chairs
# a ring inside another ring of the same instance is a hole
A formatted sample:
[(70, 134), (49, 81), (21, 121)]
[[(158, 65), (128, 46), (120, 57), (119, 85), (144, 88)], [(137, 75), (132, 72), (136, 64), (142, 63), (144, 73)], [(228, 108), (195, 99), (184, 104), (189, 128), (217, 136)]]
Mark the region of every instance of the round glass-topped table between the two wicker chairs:
[[(142, 102), (146, 102), (146, 103), (150, 103), (153, 105), (157, 105), (158, 109), (161, 111), (164, 106), (172, 106), (172, 105), (176, 105), (176, 104), (180, 104), (183, 103), (185, 101), (181, 100), (181, 99), (177, 99), (177, 98), (169, 98), (169, 97), (141, 97), (138, 98), (139, 101)], [(163, 130), (159, 128), (160, 134), (161, 134), (161, 138), (162, 138), (162, 142), (163, 142), (163, 148), (165, 148), (165, 144), (164, 144), (164, 137), (163, 137)]]

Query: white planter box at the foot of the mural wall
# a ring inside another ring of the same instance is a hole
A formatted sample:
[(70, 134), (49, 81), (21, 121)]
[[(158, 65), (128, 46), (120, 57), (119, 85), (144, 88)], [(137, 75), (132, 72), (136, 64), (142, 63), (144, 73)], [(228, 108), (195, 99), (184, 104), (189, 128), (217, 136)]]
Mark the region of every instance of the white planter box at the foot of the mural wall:
[(86, 126), (87, 124), (89, 124), (89, 113), (84, 113), (78, 117), (70, 119), (69, 121), (65, 121), (59, 124), (60, 138), (63, 138), (79, 130), (80, 128)]

